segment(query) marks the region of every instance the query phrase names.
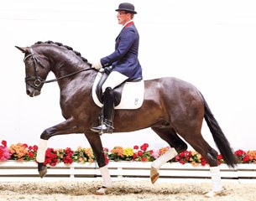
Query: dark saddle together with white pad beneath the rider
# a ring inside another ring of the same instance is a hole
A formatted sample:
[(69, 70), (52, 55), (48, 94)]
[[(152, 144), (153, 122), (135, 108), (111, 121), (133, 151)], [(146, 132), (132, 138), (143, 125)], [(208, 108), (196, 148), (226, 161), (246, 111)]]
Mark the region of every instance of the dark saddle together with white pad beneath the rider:
[[(102, 85), (107, 80), (110, 69), (99, 72), (92, 87), (92, 98), (97, 106), (103, 104)], [(140, 90), (138, 90), (140, 89)], [(144, 100), (144, 80), (142, 78), (124, 81), (113, 89), (115, 109), (138, 109)], [(123, 102), (123, 103), (122, 103)]]

